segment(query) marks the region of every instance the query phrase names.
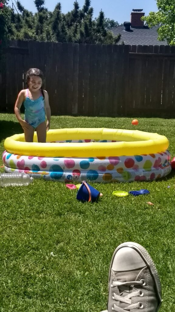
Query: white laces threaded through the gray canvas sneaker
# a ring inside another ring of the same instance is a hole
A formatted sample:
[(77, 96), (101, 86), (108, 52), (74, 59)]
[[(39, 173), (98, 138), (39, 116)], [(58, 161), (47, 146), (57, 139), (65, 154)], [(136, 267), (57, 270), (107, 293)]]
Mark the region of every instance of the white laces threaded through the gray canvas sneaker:
[(131, 304), (131, 298), (132, 297), (136, 297), (136, 296), (140, 296), (141, 295), (141, 291), (140, 290), (136, 290), (133, 291), (132, 293), (129, 292), (129, 290), (126, 290), (126, 286), (131, 286), (131, 285), (142, 285), (143, 286), (143, 280), (141, 281), (133, 281), (133, 282), (112, 282), (111, 287), (118, 287), (120, 288), (120, 290), (123, 290), (123, 292), (128, 292), (128, 295), (125, 295), (124, 297), (122, 297), (121, 295), (123, 294), (123, 292), (121, 292), (120, 295), (116, 295), (116, 293), (113, 293), (112, 299), (122, 302), (122, 303), (126, 303), (128, 306), (126, 308), (121, 308), (117, 305), (114, 304), (114, 306), (112, 307), (113, 311), (117, 311), (117, 312), (126, 312), (126, 311), (130, 311), (131, 309), (143, 309), (144, 306), (141, 302), (137, 302), (137, 303), (133, 303)]

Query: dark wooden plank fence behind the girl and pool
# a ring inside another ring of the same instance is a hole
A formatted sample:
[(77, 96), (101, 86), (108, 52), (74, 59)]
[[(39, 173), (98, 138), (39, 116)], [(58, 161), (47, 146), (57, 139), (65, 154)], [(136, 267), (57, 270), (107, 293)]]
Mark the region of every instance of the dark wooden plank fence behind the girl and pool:
[(52, 115), (175, 116), (175, 46), (11, 41), (1, 111), (13, 112), (30, 67), (45, 74)]

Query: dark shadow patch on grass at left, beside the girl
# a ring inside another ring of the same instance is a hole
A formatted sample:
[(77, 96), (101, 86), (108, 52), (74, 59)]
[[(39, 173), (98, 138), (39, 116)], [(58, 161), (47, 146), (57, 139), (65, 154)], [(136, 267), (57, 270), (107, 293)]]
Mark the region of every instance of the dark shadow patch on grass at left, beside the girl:
[(0, 125), (0, 142), (11, 135), (23, 132), (19, 122), (1, 120)]

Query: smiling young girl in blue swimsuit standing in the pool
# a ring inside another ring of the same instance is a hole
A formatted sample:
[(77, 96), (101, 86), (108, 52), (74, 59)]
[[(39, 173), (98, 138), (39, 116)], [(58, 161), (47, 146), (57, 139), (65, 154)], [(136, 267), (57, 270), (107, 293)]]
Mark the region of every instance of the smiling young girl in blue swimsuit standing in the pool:
[[(33, 142), (36, 129), (38, 142), (46, 142), (46, 131), (50, 128), (50, 105), (47, 91), (43, 90), (44, 76), (38, 68), (30, 68), (26, 73), (28, 88), (21, 90), (15, 104), (15, 115), (24, 129), (26, 142)], [(20, 108), (25, 107), (25, 120), (21, 118)], [(47, 123), (45, 122), (47, 116)]]

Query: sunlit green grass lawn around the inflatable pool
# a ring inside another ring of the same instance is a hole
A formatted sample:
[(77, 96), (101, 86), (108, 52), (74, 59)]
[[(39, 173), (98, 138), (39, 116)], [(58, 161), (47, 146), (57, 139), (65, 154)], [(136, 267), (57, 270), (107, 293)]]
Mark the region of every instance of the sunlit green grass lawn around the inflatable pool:
[[(4, 139), (22, 129), (14, 115), (0, 114), (0, 120), (2, 154)], [(157, 132), (168, 137), (175, 156), (175, 119), (139, 118), (136, 128), (131, 120), (59, 116), (52, 117), (51, 128)], [(27, 187), (0, 188), (0, 311), (105, 310), (111, 256), (124, 241), (148, 250), (162, 282), (161, 312), (175, 311), (174, 173), (156, 182), (93, 186), (103, 193), (93, 204), (78, 202), (76, 191), (59, 182), (35, 180)], [(149, 189), (150, 195), (111, 195), (140, 188)]]

